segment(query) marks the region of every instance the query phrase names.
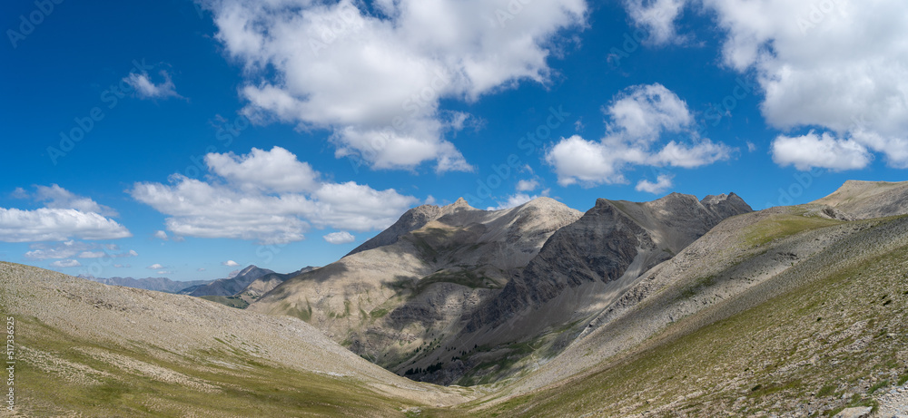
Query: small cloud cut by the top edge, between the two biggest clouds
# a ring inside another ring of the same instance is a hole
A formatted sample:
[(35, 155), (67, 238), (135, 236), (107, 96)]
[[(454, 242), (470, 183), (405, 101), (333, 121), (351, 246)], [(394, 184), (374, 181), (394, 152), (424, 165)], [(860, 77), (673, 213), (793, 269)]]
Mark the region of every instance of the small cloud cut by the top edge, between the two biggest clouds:
[(686, 0), (625, 0), (627, 14), (637, 26), (646, 29), (647, 42), (681, 43), (686, 36), (676, 34), (675, 20), (681, 15)]

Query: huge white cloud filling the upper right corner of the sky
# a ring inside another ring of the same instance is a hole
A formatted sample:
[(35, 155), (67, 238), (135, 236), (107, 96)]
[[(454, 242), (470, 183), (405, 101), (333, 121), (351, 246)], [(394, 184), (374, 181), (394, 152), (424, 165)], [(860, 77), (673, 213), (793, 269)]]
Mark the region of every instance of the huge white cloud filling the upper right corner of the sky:
[[(634, 3), (634, 2), (629, 2)], [(701, 0), (724, 33), (722, 60), (740, 73), (754, 73), (765, 97), (766, 122), (792, 131), (776, 156), (795, 168), (863, 168), (869, 155), (908, 168), (908, 3), (829, 0)], [(635, 10), (628, 13), (635, 18)], [(636, 18), (635, 18), (636, 19)], [(824, 133), (830, 133), (824, 139)], [(807, 147), (795, 150), (791, 145)], [(775, 148), (775, 147), (774, 147)], [(848, 160), (811, 160), (811, 151), (845, 151)]]

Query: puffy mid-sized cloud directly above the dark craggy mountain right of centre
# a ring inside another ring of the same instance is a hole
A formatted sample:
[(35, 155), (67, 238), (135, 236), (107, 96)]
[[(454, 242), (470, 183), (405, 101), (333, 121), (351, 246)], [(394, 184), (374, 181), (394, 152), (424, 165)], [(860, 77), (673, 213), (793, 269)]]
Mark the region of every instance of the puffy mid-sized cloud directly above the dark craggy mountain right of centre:
[[(692, 169), (727, 160), (734, 151), (724, 143), (700, 138), (686, 102), (658, 83), (629, 87), (604, 111), (611, 121), (604, 138), (588, 141), (574, 135), (547, 151), (546, 161), (562, 186), (625, 183), (627, 167)], [(691, 141), (662, 145), (666, 134), (688, 136)]]

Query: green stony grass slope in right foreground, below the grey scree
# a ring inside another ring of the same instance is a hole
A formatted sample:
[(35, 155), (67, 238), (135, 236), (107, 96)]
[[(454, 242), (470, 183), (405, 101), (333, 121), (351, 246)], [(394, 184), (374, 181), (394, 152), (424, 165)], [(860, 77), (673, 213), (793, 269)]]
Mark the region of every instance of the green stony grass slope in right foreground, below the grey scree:
[[(889, 219), (874, 229), (905, 223)], [(778, 226), (758, 228), (760, 234), (752, 229), (747, 238), (763, 243), (801, 229)], [(774, 228), (775, 234), (763, 233)], [(846, 255), (851, 258), (840, 258)], [(760, 416), (873, 405), (868, 392), (908, 376), (906, 260), (908, 246), (829, 248), (767, 283), (781, 295), (763, 304), (691, 333), (653, 338), (595, 373), (469, 414)], [(697, 320), (702, 317), (679, 321), (664, 335)]]

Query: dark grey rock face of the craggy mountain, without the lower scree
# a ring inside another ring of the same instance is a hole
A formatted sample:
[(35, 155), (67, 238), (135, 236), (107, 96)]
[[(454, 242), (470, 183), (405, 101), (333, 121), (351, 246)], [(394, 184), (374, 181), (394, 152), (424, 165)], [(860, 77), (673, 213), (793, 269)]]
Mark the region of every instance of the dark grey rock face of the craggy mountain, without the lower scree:
[[(583, 218), (549, 238), (523, 274), (474, 315), (465, 331), (494, 328), (513, 316), (532, 317), (526, 326), (538, 330), (566, 324), (577, 319), (574, 313), (585, 311), (589, 297), (559, 300), (542, 321), (526, 311), (546, 306), (568, 288), (590, 287), (588, 290), (594, 291), (593, 287), (604, 288), (622, 277), (632, 280), (673, 257), (723, 219), (750, 211), (734, 193), (708, 196), (703, 201), (678, 193), (646, 203), (597, 199), (596, 206)], [(632, 270), (629, 275), (628, 269)], [(550, 315), (553, 311), (571, 317)], [(518, 326), (521, 334), (526, 334), (526, 326)], [(504, 336), (516, 336), (509, 334)]]

